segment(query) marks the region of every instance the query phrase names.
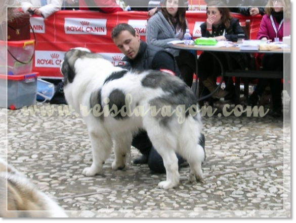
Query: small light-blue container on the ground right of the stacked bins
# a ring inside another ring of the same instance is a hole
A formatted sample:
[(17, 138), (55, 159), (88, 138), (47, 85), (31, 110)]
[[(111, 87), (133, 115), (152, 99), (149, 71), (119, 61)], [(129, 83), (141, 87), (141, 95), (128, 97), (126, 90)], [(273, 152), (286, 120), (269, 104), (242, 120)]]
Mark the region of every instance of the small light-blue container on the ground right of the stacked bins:
[(41, 80), (37, 79), (37, 101), (39, 102), (45, 102), (47, 100), (52, 99), (55, 93), (55, 85)]

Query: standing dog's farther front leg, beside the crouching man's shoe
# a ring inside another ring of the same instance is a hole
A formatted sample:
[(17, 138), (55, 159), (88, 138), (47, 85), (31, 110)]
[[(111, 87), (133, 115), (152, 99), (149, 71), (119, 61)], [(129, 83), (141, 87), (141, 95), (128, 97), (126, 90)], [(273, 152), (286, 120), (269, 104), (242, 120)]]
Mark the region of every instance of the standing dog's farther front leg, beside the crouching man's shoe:
[(112, 170), (122, 170), (125, 168), (126, 157), (131, 149), (132, 139), (132, 134), (114, 137), (115, 160), (112, 162)]

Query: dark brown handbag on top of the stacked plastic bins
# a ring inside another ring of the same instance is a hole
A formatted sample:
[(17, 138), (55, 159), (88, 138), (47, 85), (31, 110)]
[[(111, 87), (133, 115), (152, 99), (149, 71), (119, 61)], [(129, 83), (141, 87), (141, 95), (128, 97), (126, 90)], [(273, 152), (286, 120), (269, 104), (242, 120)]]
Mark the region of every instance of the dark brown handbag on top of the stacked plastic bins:
[(29, 13), (18, 13), (17, 16), (7, 22), (8, 41), (28, 40), (30, 38)]

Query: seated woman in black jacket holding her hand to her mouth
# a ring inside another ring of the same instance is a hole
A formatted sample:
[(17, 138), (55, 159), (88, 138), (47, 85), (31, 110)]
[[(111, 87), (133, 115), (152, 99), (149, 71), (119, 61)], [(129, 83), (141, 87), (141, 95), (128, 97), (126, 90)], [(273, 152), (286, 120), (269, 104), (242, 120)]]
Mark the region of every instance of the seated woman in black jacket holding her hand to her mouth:
[[(228, 8), (221, 1), (211, 1), (206, 7), (206, 21), (200, 25), (202, 37), (213, 37), (216, 40), (236, 42), (238, 34), (245, 34), (239, 21), (230, 16)], [(204, 51), (198, 59), (198, 76), (203, 85), (213, 92), (217, 88), (217, 75), (221, 75), (221, 67), (215, 56), (222, 62), (223, 69), (245, 69), (244, 53), (209, 52)], [(231, 99), (234, 97), (232, 78), (225, 78), (226, 87), (218, 89), (212, 97)]]

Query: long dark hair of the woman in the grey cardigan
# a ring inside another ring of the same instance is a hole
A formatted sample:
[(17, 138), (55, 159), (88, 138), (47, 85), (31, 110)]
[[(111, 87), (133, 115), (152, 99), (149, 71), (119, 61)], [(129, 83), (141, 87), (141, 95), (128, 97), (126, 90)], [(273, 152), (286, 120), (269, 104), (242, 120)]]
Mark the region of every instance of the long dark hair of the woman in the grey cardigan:
[(178, 1), (178, 11), (177, 11), (177, 14), (176, 14), (176, 19), (177, 21), (175, 21), (175, 18), (167, 12), (166, 10), (166, 2), (167, 0), (164, 0), (163, 2), (163, 7), (161, 8), (157, 8), (156, 12), (157, 11), (161, 11), (164, 18), (168, 21), (168, 22), (171, 22), (174, 27), (176, 27), (177, 23), (180, 24), (181, 26), (181, 29), (182, 31), (185, 33), (186, 32), (186, 28), (187, 28), (187, 24), (186, 24), (186, 19), (185, 19), (185, 14), (186, 14), (186, 6), (185, 6), (185, 0), (179, 0)]

